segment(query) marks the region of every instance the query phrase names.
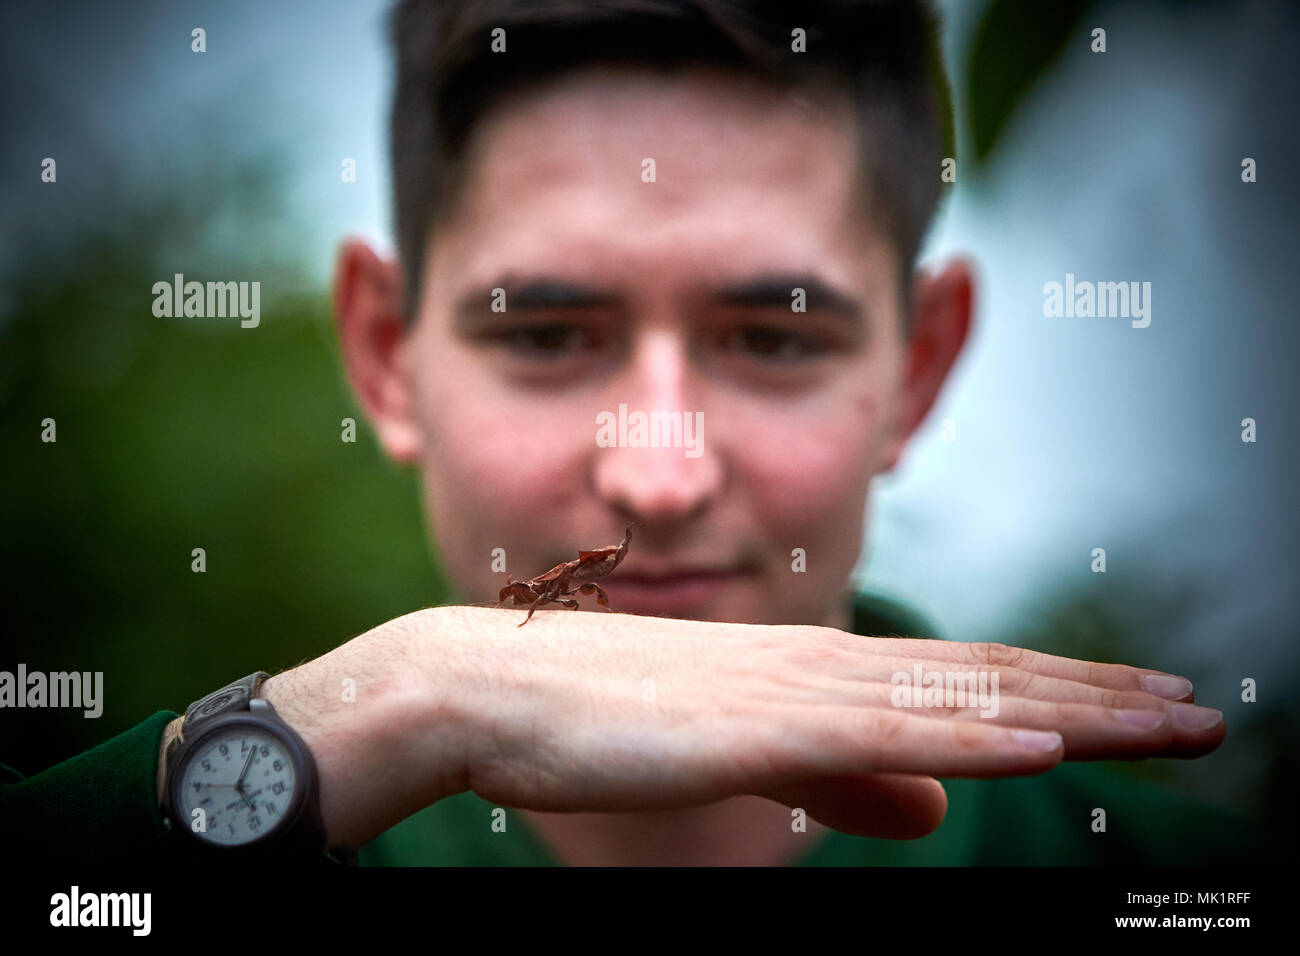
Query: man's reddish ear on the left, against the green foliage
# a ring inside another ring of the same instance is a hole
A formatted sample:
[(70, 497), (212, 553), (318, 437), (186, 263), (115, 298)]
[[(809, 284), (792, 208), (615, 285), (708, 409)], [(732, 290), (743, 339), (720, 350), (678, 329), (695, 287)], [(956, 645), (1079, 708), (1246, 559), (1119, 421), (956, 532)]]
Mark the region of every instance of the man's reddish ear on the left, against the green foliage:
[(408, 329), (402, 316), (402, 269), (361, 239), (348, 239), (334, 264), (334, 316), (343, 368), (385, 453), (403, 464), (420, 451)]

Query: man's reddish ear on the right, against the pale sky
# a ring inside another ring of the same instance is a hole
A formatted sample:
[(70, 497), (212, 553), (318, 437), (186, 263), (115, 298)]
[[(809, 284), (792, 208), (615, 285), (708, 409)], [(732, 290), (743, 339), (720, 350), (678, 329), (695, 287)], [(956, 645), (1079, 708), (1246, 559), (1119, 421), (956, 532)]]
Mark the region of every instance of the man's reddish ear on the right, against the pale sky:
[(967, 260), (956, 259), (942, 272), (918, 272), (913, 280), (907, 367), (885, 470), (898, 458), (926, 420), (939, 390), (966, 343), (974, 312), (975, 278)]

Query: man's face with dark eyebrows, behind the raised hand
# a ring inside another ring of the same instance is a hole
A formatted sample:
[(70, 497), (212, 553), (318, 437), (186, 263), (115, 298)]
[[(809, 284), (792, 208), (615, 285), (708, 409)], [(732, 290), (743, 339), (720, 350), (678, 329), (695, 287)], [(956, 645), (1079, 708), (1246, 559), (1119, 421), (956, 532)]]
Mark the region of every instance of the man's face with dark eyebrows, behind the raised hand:
[[(846, 109), (588, 70), (477, 125), (395, 350), (408, 423), (385, 440), (424, 473), (463, 600), (497, 600), (497, 548), (528, 579), (634, 522), (601, 581), (618, 610), (846, 626), (907, 371)], [(699, 412), (698, 457), (602, 446), (598, 415), (620, 406)]]

